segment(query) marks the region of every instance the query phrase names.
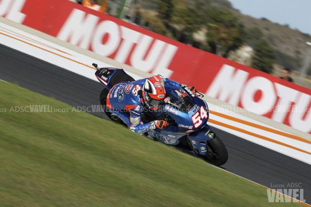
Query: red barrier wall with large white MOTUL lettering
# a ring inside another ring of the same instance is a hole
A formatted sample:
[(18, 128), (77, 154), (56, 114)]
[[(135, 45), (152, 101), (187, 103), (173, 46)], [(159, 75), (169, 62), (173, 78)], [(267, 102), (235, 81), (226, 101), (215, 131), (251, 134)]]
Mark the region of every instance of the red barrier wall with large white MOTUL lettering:
[(2, 0), (0, 15), (311, 133), (311, 90), (67, 0)]

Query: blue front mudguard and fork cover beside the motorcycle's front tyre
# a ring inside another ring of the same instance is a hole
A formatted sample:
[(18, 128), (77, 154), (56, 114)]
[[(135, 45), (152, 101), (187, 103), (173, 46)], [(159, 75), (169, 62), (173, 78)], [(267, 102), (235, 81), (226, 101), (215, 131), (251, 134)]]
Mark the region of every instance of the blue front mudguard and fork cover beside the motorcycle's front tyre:
[(210, 126), (206, 124), (201, 130), (192, 132), (190, 135), (187, 135), (187, 137), (188, 142), (195, 153), (206, 155), (208, 154), (207, 142), (214, 139), (216, 134)]

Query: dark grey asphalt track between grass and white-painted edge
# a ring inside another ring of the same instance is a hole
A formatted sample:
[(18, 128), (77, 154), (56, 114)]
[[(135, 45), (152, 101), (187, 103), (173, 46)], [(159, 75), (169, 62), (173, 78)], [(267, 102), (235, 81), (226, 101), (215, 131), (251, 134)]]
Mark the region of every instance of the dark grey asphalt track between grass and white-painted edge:
[[(98, 82), (1, 44), (0, 79), (72, 106), (98, 104), (102, 89)], [(100, 113), (96, 115), (106, 117)], [(272, 188), (301, 183), (304, 199), (311, 203), (311, 165), (227, 132), (214, 130), (228, 149), (229, 160), (222, 166), (224, 169), (264, 186), (272, 185)]]

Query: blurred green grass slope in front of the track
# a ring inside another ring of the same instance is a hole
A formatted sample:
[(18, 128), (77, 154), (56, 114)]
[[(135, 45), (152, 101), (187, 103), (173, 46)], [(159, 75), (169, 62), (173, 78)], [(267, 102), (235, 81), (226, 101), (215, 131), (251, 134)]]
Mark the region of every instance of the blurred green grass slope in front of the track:
[[(277, 205), (266, 188), (115, 123), (11, 83), (0, 94), (1, 206)], [(10, 112), (30, 104), (69, 112)]]

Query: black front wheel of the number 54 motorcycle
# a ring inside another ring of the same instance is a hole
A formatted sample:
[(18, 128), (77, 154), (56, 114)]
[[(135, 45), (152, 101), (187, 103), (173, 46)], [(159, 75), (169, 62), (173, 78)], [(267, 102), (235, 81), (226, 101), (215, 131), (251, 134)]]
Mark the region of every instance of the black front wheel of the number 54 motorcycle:
[(217, 136), (206, 143), (206, 149), (208, 153), (206, 153), (204, 159), (209, 163), (220, 166), (227, 162), (228, 152), (226, 146)]

